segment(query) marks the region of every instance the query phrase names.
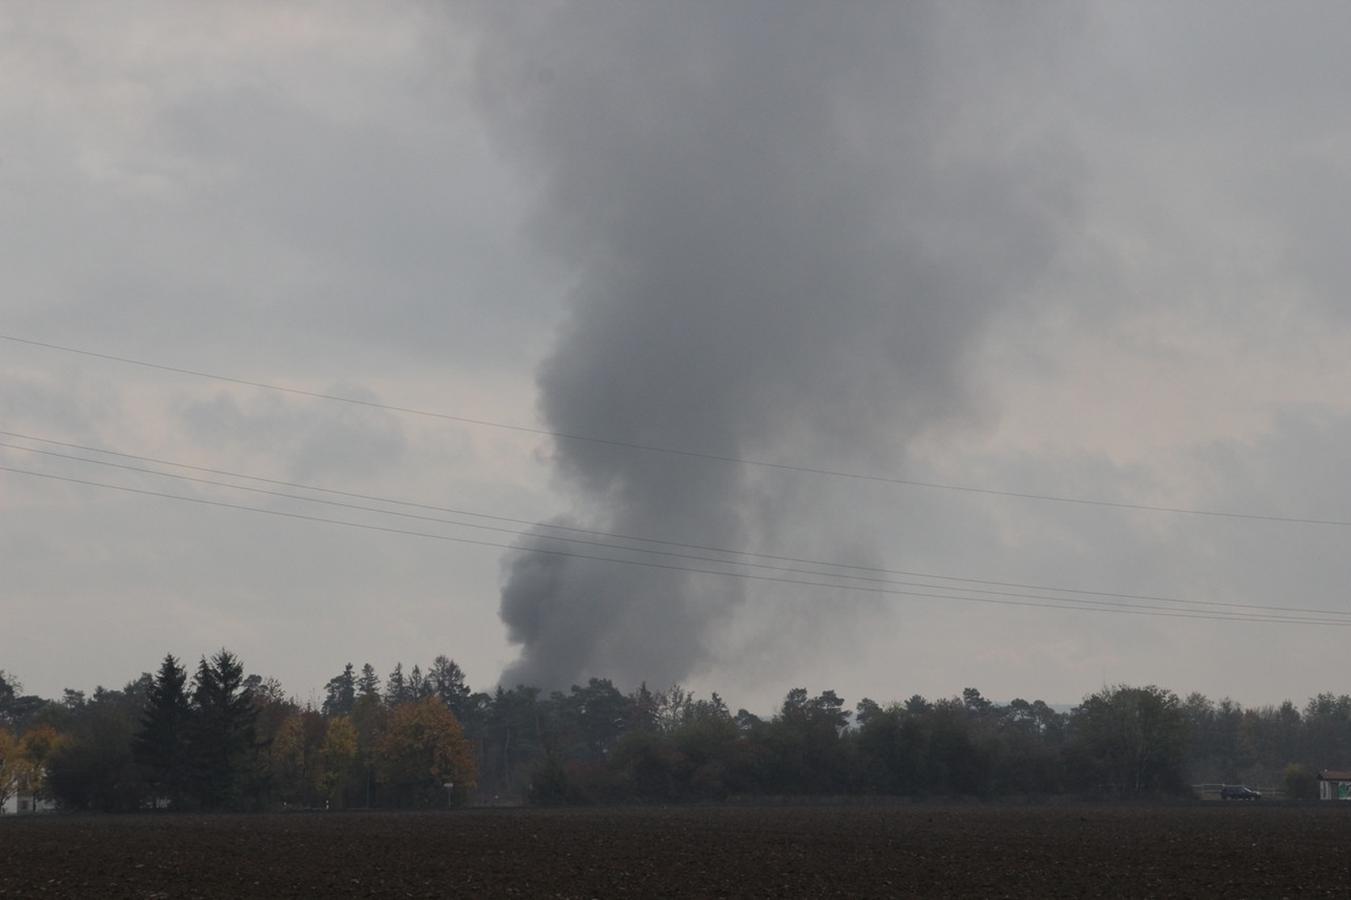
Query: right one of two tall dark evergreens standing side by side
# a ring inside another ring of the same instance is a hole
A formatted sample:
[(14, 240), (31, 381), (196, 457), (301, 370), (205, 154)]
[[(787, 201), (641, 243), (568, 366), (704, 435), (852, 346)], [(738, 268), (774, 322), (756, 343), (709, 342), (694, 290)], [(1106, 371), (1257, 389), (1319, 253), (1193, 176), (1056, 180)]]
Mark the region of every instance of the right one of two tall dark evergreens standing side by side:
[(193, 677), (192, 750), (197, 800), (205, 808), (236, 805), (254, 743), (257, 709), (239, 658), (222, 649), (203, 657)]

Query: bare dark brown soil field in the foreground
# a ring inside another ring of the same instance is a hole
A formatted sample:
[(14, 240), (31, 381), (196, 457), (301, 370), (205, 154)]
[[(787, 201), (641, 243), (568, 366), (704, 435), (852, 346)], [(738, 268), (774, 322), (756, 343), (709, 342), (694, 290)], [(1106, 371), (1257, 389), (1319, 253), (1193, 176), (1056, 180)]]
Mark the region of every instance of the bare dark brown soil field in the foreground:
[(9, 818), (0, 897), (1340, 897), (1348, 849), (1340, 804)]

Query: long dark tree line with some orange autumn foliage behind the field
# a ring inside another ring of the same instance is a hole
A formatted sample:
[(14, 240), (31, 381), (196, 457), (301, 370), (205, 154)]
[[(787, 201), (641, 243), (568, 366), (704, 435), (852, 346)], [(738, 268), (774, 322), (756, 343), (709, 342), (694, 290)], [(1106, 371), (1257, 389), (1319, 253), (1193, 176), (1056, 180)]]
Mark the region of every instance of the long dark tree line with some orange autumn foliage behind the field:
[(228, 650), (173, 655), (120, 691), (24, 695), (0, 670), (0, 800), (68, 809), (682, 803), (757, 796), (1185, 795), (1281, 785), (1351, 764), (1351, 696), (1243, 708), (1105, 686), (1069, 711), (919, 695), (848, 708), (794, 688), (771, 715), (681, 686), (473, 691), (440, 655), (381, 678), (347, 664), (319, 704)]

